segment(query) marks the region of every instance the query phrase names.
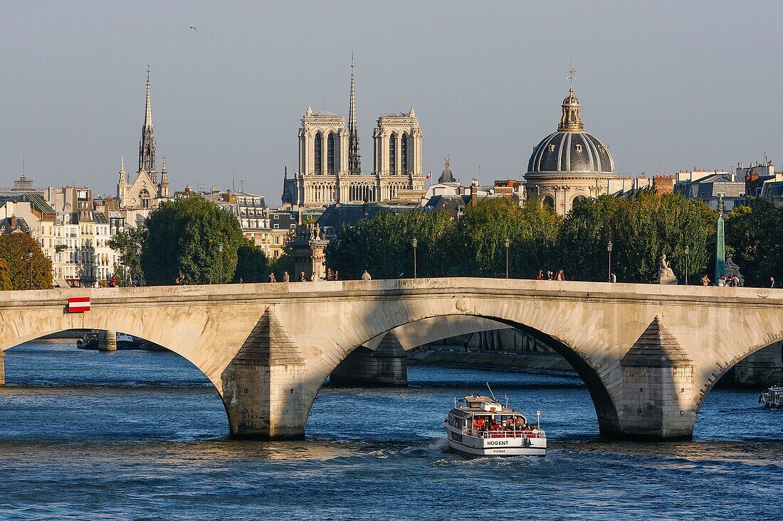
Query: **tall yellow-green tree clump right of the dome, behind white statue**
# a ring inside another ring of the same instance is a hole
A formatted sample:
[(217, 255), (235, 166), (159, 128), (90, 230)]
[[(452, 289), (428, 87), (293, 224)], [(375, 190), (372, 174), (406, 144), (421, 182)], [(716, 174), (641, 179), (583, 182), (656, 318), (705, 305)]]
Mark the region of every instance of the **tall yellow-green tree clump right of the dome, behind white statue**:
[(716, 213), (705, 204), (652, 189), (636, 196), (601, 196), (574, 207), (557, 239), (559, 265), (568, 278), (608, 279), (608, 242), (612, 271), (618, 280), (655, 282), (666, 255), (680, 277), (685, 274), (685, 246), (690, 248), (688, 277), (708, 268), (713, 255)]

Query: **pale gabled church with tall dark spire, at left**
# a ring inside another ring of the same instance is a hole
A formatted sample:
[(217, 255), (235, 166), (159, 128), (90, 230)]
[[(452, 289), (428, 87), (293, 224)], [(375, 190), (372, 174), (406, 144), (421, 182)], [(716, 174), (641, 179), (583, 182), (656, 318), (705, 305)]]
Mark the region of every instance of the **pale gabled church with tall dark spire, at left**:
[(147, 70), (146, 105), (142, 138), (139, 142), (139, 171), (136, 179), (128, 183), (124, 160), (120, 158), (120, 178), (117, 181), (117, 200), (120, 208), (155, 208), (161, 200), (168, 199), (171, 188), (168, 185), (166, 158), (161, 167), (161, 181), (157, 180), (155, 165), (155, 135), (152, 125), (152, 105), (150, 103), (150, 71)]

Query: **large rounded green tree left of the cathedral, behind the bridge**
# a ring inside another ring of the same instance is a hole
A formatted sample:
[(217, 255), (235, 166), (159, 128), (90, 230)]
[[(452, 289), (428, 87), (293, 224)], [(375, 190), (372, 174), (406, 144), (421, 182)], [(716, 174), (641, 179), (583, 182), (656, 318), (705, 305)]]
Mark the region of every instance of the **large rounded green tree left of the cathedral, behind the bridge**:
[(150, 284), (172, 284), (180, 274), (189, 284), (232, 280), (242, 229), (217, 204), (201, 197), (161, 203), (147, 217), (146, 230), (141, 265)]

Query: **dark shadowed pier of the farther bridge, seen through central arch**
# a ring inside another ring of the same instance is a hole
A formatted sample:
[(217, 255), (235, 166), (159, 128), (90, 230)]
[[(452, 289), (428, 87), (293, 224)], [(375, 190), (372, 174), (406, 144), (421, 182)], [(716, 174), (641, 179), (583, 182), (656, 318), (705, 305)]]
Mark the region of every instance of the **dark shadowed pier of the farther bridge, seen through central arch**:
[(376, 350), (360, 346), (341, 361), (329, 377), (336, 386), (407, 386), (408, 355), (394, 332)]

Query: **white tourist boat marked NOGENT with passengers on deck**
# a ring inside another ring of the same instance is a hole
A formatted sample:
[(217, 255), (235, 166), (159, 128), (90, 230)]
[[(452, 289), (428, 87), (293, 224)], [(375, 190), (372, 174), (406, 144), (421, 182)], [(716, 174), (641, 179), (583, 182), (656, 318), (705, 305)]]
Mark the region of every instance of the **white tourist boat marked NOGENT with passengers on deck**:
[[(489, 387), (489, 386), (488, 386)], [(444, 424), (449, 447), (471, 456), (545, 456), (547, 434), (541, 429), (541, 414), (536, 425), (524, 415), (503, 406), (492, 396), (466, 396), (449, 411)]]

